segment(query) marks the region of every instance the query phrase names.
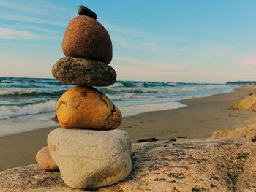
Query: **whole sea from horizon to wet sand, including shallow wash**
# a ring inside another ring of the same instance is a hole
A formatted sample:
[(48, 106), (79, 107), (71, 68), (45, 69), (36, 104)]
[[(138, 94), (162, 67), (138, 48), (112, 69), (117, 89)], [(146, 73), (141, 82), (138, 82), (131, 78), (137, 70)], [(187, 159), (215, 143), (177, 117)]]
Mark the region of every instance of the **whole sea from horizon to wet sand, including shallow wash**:
[[(56, 102), (61, 94), (73, 86), (55, 79), (0, 77), (0, 136), (29, 131), (33, 126), (43, 128), (57, 125), (51, 121), (56, 115)], [(129, 116), (185, 107), (178, 101), (227, 93), (236, 86), (236, 83), (117, 81), (109, 87), (97, 89), (116, 104), (123, 116)], [(13, 128), (14, 125), (17, 127)], [(7, 126), (12, 128), (8, 129)]]

